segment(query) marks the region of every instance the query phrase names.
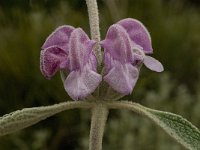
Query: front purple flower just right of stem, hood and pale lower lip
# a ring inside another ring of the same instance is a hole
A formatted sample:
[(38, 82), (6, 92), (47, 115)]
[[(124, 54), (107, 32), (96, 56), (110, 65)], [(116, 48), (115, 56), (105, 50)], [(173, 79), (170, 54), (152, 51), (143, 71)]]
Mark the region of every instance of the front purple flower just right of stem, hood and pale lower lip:
[(138, 69), (132, 65), (133, 50), (129, 35), (120, 25), (112, 25), (106, 39), (100, 43), (104, 48), (107, 74), (104, 80), (117, 92), (129, 94), (138, 79)]

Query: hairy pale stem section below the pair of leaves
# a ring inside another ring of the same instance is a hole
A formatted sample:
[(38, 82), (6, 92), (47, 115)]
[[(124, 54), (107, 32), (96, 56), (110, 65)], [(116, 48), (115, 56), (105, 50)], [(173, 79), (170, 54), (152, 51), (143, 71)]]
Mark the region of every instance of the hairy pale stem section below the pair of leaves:
[(102, 150), (103, 133), (109, 110), (102, 103), (92, 108), (89, 150)]

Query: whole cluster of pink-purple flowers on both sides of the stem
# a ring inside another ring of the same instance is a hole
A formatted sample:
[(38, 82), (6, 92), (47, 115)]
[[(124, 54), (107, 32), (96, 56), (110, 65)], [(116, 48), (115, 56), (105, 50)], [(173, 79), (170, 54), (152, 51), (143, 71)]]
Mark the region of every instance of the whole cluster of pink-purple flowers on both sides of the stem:
[[(66, 92), (74, 100), (84, 99), (102, 81), (93, 52), (95, 44), (81, 28), (57, 28), (42, 46), (42, 74), (50, 79), (59, 70), (68, 72)], [(151, 37), (138, 20), (128, 18), (112, 25), (100, 45), (106, 70), (103, 80), (120, 94), (133, 91), (142, 63), (153, 71), (163, 71), (158, 60), (145, 55), (153, 53)]]

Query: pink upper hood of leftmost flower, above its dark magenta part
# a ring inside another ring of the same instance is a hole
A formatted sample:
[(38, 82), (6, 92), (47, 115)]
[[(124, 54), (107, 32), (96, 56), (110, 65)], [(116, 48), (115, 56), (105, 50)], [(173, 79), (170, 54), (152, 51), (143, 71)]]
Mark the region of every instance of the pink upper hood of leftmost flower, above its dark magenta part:
[(69, 37), (74, 27), (63, 25), (58, 27), (54, 32), (52, 32), (49, 37), (44, 42), (42, 49), (46, 49), (50, 46), (56, 46), (67, 52), (67, 45), (69, 42)]

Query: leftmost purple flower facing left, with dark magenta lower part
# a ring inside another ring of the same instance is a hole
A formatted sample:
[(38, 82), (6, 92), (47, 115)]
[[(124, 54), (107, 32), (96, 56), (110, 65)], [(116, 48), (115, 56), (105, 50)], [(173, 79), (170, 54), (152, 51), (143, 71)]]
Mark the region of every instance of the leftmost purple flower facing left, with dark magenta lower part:
[(72, 26), (60, 26), (44, 42), (40, 70), (46, 78), (51, 78), (58, 70), (66, 68), (68, 43), (73, 30)]

